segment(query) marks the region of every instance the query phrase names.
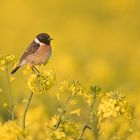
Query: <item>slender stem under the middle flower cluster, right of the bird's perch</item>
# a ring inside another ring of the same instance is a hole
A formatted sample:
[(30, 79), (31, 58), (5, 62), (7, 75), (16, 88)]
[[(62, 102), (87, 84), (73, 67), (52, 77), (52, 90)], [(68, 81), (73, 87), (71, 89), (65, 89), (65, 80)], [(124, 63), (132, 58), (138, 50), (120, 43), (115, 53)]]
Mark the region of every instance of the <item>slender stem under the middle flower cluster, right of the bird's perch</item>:
[[(70, 93), (70, 95), (68, 96), (68, 98), (67, 98), (67, 100), (66, 100), (66, 102), (64, 104), (65, 105), (65, 108), (66, 108), (69, 100), (71, 99), (71, 97), (72, 97), (72, 93)], [(58, 118), (58, 121), (57, 121), (57, 123), (55, 125), (55, 129), (57, 129), (59, 127), (59, 125), (61, 124), (62, 116), (65, 114), (65, 112), (66, 112), (66, 110), (65, 109), (62, 109), (62, 112), (60, 113), (59, 118)]]

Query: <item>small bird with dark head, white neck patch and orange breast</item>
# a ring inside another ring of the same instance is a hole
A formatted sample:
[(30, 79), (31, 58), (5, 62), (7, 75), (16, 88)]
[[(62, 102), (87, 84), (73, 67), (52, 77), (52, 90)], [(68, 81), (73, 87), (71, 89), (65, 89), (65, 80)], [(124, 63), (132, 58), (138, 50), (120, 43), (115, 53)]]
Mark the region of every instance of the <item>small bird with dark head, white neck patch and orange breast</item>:
[(38, 34), (25, 50), (18, 65), (11, 71), (11, 74), (14, 74), (25, 64), (29, 64), (34, 69), (36, 69), (35, 65), (45, 65), (51, 57), (52, 48), (50, 43), (52, 40), (53, 39), (47, 33)]

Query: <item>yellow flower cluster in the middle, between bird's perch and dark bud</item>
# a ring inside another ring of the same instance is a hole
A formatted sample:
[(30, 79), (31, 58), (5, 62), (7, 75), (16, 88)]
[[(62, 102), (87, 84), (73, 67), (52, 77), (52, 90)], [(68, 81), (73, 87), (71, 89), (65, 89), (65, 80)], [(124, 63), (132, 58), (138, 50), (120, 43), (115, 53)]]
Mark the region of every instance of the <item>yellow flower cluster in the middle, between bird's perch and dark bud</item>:
[(72, 95), (82, 95), (83, 86), (77, 80), (65, 80), (60, 87), (62, 92), (66, 91)]

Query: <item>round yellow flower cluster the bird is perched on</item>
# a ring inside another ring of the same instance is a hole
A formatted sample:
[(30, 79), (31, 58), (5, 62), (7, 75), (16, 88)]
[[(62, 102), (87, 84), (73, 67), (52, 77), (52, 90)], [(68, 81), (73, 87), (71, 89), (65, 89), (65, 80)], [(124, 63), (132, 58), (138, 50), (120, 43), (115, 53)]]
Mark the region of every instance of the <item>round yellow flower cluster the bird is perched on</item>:
[(38, 74), (32, 74), (27, 82), (29, 89), (34, 93), (47, 92), (54, 85), (56, 79), (54, 70), (44, 71)]

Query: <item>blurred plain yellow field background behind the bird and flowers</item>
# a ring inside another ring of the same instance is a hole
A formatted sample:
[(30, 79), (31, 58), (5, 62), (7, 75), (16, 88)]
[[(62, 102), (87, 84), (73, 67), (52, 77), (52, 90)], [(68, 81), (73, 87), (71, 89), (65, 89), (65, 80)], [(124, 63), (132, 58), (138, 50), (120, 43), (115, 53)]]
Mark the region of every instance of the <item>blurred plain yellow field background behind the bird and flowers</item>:
[[(122, 92), (140, 117), (139, 0), (0, 1), (0, 55), (14, 54), (18, 62), (41, 32), (54, 39), (46, 69), (53, 67), (57, 80), (48, 94), (37, 95), (34, 100), (47, 103), (49, 115), (56, 112), (54, 96), (60, 82), (78, 79), (87, 87), (100, 85), (103, 90)], [(22, 70), (12, 83), (15, 100), (28, 95)], [(6, 91), (2, 72), (0, 87)]]

